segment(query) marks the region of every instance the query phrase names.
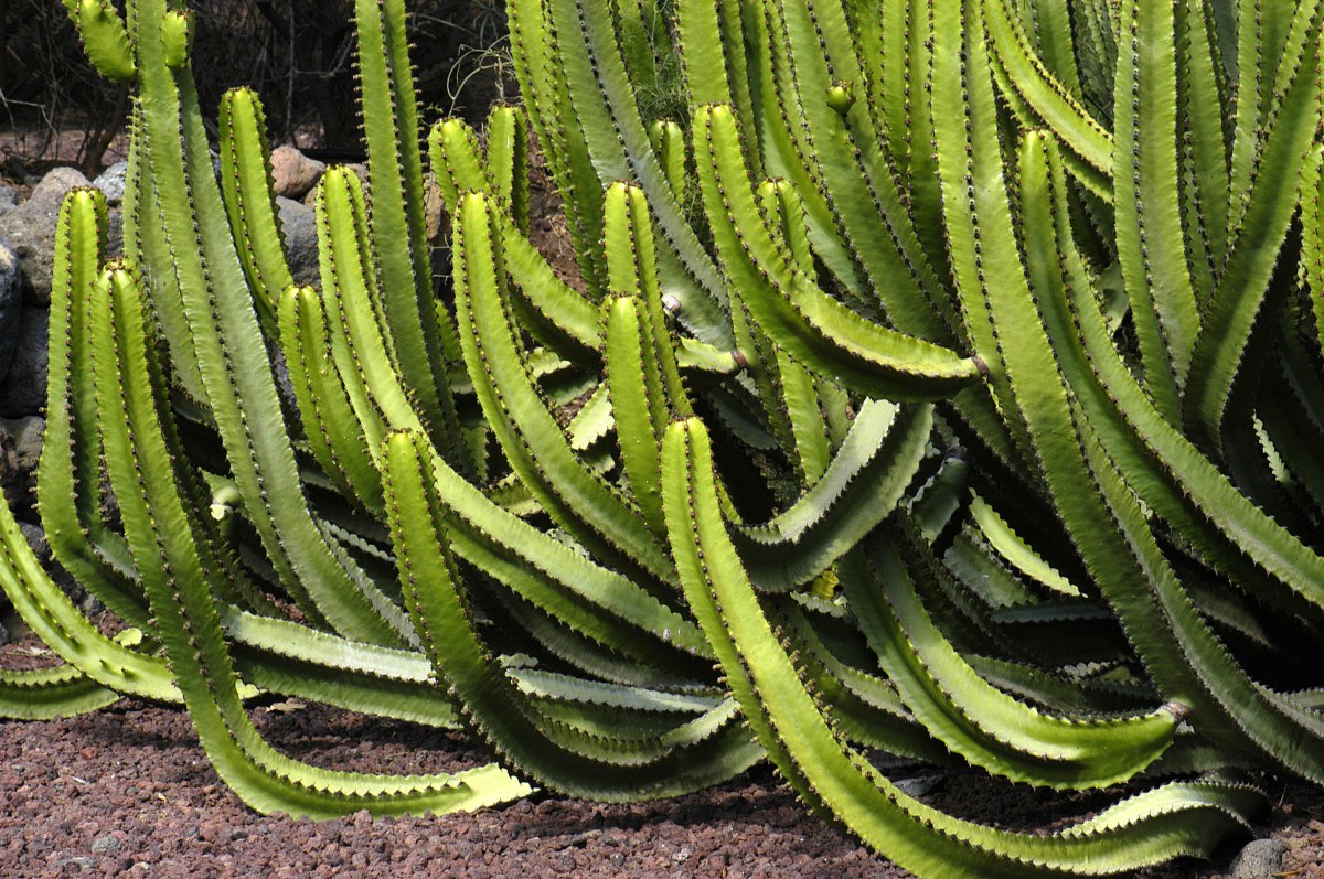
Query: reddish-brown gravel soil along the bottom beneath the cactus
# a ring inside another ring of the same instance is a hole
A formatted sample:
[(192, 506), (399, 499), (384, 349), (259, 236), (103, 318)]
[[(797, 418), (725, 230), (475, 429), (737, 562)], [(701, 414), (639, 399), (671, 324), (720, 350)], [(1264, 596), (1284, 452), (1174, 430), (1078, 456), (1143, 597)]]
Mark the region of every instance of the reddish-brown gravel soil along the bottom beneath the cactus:
[[(0, 667), (46, 665), (28, 637), (0, 649)], [(461, 733), (319, 706), (256, 708), (265, 736), (326, 766), (391, 773), (454, 772), (485, 761)], [(1009, 827), (1053, 825), (1108, 801), (1063, 798), (977, 774), (902, 770), (925, 798)], [(1284, 879), (1324, 879), (1324, 794), (1278, 785), (1256, 835), (1287, 845)], [(1223, 875), (1181, 860), (1145, 879)], [(910, 874), (809, 815), (760, 766), (703, 793), (639, 805), (545, 794), (499, 810), (312, 822), (260, 815), (216, 776), (188, 716), (135, 700), (64, 720), (0, 723), (0, 876), (801, 876), (883, 879)]]

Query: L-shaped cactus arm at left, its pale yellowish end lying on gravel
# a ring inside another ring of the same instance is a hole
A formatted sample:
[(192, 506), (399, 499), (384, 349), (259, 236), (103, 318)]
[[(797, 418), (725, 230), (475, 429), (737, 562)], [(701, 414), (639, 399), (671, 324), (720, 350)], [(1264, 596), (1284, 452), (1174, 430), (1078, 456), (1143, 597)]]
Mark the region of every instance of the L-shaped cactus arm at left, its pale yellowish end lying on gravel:
[[(383, 813), (471, 809), (527, 793), (491, 766), (455, 776), (364, 776), (318, 769), (274, 752), (252, 725), (238, 698), (209, 581), (208, 555), (176, 483), (163, 433), (168, 410), (146, 351), (136, 281), (111, 269), (93, 304), (98, 400), (106, 413), (106, 461), (122, 502), (126, 537), (144, 569), (171, 667), (203, 747), (238, 796), (262, 811), (328, 817), (372, 806)], [(168, 433), (168, 430), (166, 430)], [(135, 491), (136, 488), (136, 491)], [(151, 564), (143, 564), (150, 559)]]

